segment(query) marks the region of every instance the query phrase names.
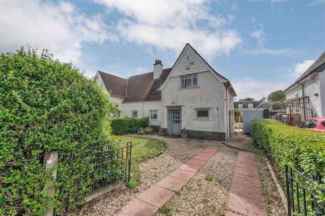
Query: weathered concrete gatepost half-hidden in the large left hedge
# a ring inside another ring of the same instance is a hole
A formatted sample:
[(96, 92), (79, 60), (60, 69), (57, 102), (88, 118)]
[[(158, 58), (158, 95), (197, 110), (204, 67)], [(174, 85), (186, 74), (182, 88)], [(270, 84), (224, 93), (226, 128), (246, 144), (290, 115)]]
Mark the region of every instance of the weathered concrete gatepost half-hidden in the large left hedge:
[[(52, 186), (53, 182), (56, 180), (56, 170), (52, 170), (56, 165), (58, 160), (58, 152), (49, 152), (45, 157), (45, 170), (46, 172), (51, 172), (52, 178), (50, 181), (46, 182), (44, 189), (46, 190), (47, 195), (53, 195), (55, 193), (55, 188)], [(47, 204), (48, 211), (43, 214), (43, 216), (53, 216), (54, 209), (53, 203), (48, 200), (44, 200), (43, 204)]]

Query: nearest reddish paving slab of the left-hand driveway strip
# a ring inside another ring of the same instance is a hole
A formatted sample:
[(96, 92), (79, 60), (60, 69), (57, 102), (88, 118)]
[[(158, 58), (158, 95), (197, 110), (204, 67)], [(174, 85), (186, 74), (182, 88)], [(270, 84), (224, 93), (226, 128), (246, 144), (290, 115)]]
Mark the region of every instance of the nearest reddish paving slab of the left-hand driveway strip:
[(122, 211), (117, 213), (117, 216), (149, 216), (153, 215), (158, 210), (151, 204), (148, 204), (142, 200), (134, 198), (126, 203)]

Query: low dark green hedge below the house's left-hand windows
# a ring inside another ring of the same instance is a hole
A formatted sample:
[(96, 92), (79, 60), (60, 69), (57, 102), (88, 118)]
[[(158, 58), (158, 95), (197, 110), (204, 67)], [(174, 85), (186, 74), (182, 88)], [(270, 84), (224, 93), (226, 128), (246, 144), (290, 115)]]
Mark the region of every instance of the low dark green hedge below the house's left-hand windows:
[(111, 129), (114, 135), (136, 133), (139, 128), (148, 127), (149, 118), (114, 118), (111, 120)]

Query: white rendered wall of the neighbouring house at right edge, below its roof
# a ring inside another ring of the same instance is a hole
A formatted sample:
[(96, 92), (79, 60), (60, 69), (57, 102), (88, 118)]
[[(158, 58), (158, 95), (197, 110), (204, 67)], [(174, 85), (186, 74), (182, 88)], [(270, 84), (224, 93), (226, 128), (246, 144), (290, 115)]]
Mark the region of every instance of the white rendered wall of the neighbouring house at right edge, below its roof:
[[(322, 82), (324, 83), (324, 73), (324, 71), (320, 73), (312, 73), (310, 76), (300, 81), (300, 83), (304, 84), (305, 95), (309, 96), (309, 103), (306, 103), (305, 106), (311, 108), (316, 117), (322, 116), (321, 98), (324, 97), (323, 94), (325, 94), (325, 92), (321, 92), (319, 77), (322, 78)], [(307, 80), (309, 77), (310, 79)], [(322, 86), (321, 88), (324, 87)], [(318, 93), (318, 96), (313, 95), (316, 92)], [(300, 84), (296, 84), (286, 91), (286, 99), (296, 98), (297, 93), (298, 97), (302, 97), (302, 86)]]

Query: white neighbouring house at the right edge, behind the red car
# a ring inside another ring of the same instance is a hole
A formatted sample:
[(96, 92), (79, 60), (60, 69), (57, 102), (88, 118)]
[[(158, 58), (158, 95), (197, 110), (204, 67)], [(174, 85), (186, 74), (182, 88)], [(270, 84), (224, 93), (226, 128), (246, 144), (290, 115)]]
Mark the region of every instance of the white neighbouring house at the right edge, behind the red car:
[(325, 117), (325, 52), (283, 92), (287, 100), (301, 98), (299, 103), (311, 109), (312, 116)]

